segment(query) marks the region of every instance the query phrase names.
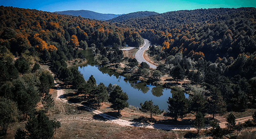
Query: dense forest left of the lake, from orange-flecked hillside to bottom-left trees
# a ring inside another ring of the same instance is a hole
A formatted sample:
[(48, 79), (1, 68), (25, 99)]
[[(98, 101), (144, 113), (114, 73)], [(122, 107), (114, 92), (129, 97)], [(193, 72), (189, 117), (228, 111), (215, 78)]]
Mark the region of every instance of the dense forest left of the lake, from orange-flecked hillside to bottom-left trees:
[[(119, 28), (105, 21), (1, 6), (0, 123), (2, 130), (6, 134), (10, 123), (27, 119), (28, 116), (30, 119), (27, 124), (34, 124), (30, 122), (35, 122), (36, 119), (40, 119), (39, 117), (46, 117), (43, 113), (34, 116), (35, 108), (40, 101), (45, 110), (49, 110), (49, 107), (54, 105), (49, 94), (50, 88), (54, 86), (54, 78), (48, 70), (41, 69), (39, 64), (50, 65), (59, 79), (64, 83), (71, 83), (73, 74), (67, 68), (66, 61), (75, 58), (84, 59), (81, 53), (77, 53), (78, 48), (90, 47), (95, 52), (101, 50), (104, 52), (103, 60), (107, 63), (116, 63), (123, 58), (123, 53), (119, 50), (121, 45), (139, 47), (142, 43), (143, 39), (138, 32)], [(34, 128), (56, 127), (55, 121), (43, 119), (46, 121), (41, 122), (49, 125), (39, 125)], [(33, 136), (37, 129), (26, 128), (26, 130)], [(19, 132), (23, 131), (19, 130)], [(46, 134), (52, 136), (53, 132)]]

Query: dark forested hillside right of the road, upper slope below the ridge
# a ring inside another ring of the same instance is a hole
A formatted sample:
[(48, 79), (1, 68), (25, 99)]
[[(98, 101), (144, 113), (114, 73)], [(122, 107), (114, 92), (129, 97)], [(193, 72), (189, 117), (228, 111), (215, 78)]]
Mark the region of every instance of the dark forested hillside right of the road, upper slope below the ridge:
[(237, 58), (239, 54), (256, 51), (256, 8), (219, 8), (171, 11), (116, 23), (130, 27), (162, 45), (162, 50), (197, 60), (203, 57), (215, 62), (217, 58)]

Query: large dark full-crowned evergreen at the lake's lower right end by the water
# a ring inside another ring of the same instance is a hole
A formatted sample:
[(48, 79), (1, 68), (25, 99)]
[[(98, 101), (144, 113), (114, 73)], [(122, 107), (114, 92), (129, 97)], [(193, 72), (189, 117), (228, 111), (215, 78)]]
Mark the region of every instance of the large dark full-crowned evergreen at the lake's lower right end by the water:
[(183, 119), (189, 108), (189, 101), (186, 99), (184, 92), (178, 91), (172, 93), (172, 97), (169, 97), (167, 103), (168, 105), (168, 116), (177, 120), (178, 118)]

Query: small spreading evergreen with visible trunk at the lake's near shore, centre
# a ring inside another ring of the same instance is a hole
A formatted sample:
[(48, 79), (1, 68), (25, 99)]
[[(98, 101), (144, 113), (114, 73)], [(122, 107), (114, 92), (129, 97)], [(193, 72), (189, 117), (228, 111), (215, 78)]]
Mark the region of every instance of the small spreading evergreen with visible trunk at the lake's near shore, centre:
[(144, 104), (140, 103), (140, 109), (142, 112), (150, 112), (150, 118), (152, 120), (153, 114), (161, 114), (163, 110), (160, 110), (158, 105), (153, 105), (153, 101), (145, 101)]

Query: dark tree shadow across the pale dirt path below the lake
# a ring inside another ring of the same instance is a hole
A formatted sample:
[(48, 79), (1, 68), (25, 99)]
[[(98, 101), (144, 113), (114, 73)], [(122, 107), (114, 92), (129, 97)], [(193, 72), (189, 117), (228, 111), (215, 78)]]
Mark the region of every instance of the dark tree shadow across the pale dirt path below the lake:
[(122, 115), (119, 112), (104, 112), (101, 114), (95, 114), (93, 119), (101, 120), (101, 121), (108, 121), (108, 120), (115, 120), (119, 119)]

